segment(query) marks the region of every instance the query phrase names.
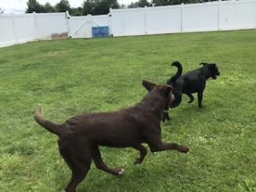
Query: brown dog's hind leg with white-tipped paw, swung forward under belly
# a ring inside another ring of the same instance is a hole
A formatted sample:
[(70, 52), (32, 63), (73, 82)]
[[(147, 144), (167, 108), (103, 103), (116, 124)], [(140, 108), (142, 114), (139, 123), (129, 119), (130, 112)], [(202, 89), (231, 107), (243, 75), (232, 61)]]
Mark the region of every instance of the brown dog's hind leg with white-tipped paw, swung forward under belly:
[(92, 148), (92, 159), (96, 165), (96, 167), (98, 169), (101, 169), (102, 171), (104, 172), (109, 172), (113, 175), (122, 175), (125, 170), (124, 169), (119, 169), (119, 168), (116, 168), (116, 169), (113, 169), (113, 168), (109, 168), (102, 160), (102, 155), (101, 155), (101, 152), (99, 150), (99, 147), (98, 146), (94, 146)]

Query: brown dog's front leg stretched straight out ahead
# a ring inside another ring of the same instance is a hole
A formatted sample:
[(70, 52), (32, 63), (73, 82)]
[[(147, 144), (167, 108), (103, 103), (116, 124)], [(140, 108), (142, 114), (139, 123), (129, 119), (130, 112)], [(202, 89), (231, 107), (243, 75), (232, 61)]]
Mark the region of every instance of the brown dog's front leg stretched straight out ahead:
[(149, 148), (151, 152), (163, 151), (163, 150), (177, 150), (182, 153), (189, 152), (189, 148), (186, 146), (178, 145), (177, 143), (157, 143), (157, 144), (149, 144)]

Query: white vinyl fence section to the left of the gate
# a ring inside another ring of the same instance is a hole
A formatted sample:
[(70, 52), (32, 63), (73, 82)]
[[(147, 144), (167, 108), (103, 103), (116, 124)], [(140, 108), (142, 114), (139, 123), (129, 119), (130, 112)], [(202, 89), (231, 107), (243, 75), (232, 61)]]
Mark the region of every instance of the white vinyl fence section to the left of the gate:
[(0, 15), (0, 47), (67, 32), (66, 13)]

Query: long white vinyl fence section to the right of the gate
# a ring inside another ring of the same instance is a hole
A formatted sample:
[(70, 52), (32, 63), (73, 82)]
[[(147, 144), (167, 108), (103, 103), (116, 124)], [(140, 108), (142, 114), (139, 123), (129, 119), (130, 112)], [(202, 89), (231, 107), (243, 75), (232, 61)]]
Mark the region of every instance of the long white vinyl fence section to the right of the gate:
[(207, 32), (256, 27), (256, 1), (218, 1), (110, 9), (113, 36)]

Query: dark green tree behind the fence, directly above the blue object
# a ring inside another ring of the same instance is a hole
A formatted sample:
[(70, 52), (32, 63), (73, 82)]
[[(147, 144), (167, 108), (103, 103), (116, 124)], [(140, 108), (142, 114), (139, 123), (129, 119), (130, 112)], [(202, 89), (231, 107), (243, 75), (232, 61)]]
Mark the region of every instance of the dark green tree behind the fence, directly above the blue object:
[(83, 4), (83, 14), (106, 15), (109, 8), (119, 9), (117, 0), (86, 0)]

